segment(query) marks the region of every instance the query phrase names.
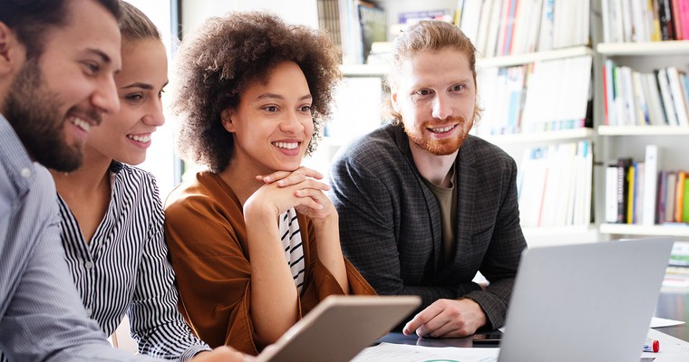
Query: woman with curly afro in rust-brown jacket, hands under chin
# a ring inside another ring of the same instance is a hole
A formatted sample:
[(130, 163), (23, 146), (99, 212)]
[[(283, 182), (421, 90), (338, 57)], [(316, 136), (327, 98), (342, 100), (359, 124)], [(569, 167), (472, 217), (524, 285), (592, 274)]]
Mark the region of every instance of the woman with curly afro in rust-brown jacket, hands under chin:
[(208, 167), (165, 206), (192, 329), (256, 355), (326, 296), (374, 294), (342, 254), (329, 186), (301, 167), (340, 79), (327, 35), (234, 13), (209, 19), (177, 58), (180, 153)]

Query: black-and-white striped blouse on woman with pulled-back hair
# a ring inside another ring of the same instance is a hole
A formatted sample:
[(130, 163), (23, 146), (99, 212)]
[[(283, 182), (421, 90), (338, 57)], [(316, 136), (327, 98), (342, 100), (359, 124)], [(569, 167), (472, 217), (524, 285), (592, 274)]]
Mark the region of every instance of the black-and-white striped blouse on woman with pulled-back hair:
[(106, 336), (124, 313), (141, 354), (187, 360), (208, 345), (177, 310), (158, 187), (148, 172), (112, 162), (112, 198), (90, 243), (59, 197), (66, 260), (86, 313)]

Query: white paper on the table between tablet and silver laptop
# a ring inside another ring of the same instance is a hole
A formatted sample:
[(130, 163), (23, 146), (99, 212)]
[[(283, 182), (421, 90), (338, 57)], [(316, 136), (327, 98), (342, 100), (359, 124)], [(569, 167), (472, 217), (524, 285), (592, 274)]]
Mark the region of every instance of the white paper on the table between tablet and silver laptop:
[(427, 360), (461, 361), (461, 362), (496, 362), (500, 348), (458, 348), (458, 347), (422, 347), (381, 343), (378, 346), (365, 348), (353, 362), (418, 362)]

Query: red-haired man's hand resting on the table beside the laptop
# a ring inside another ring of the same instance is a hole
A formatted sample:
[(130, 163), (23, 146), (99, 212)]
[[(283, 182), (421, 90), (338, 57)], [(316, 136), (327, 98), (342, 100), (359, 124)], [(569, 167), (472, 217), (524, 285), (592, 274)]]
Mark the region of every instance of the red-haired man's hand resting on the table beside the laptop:
[(470, 299), (436, 300), (404, 326), (403, 333), (419, 337), (459, 338), (471, 336), (486, 324), (479, 304)]

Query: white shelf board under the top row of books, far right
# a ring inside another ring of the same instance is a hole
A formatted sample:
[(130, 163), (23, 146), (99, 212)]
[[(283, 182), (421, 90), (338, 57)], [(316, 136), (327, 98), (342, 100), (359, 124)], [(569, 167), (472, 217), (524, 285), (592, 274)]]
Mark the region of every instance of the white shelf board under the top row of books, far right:
[(607, 56), (684, 55), (689, 52), (689, 41), (598, 43), (596, 50)]

